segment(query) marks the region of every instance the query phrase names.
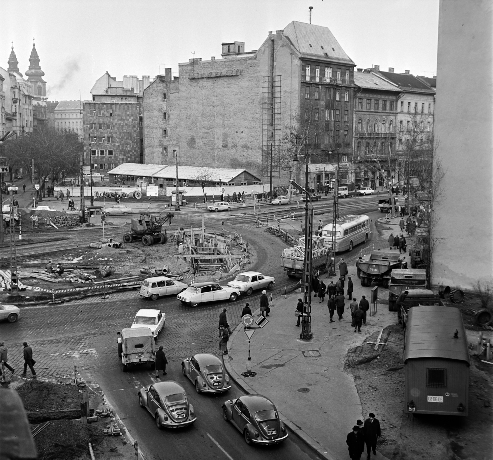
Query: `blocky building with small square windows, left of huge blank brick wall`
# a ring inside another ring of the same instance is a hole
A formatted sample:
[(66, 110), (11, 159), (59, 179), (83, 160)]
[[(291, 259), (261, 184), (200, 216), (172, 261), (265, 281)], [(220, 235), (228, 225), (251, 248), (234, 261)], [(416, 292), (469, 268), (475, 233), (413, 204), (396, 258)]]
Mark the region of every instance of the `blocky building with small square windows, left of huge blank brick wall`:
[(142, 163), (142, 96), (149, 76), (125, 75), (116, 80), (108, 72), (91, 89), (83, 104), (84, 161), (93, 170), (121, 163)]

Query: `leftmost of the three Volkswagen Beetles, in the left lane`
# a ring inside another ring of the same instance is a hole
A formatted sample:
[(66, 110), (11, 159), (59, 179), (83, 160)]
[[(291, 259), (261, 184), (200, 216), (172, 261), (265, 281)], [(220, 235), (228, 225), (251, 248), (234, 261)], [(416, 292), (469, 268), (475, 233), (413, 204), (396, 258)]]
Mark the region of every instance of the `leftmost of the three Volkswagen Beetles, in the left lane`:
[(141, 388), (139, 404), (151, 413), (160, 429), (180, 428), (192, 425), (197, 420), (185, 389), (173, 380)]

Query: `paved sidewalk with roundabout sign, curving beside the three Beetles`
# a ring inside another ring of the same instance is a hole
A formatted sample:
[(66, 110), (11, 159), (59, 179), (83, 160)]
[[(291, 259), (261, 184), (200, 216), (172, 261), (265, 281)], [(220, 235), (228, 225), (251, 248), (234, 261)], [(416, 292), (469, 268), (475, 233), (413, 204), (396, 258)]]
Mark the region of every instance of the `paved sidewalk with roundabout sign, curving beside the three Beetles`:
[[(353, 297), (358, 302), (362, 295), (369, 299), (370, 288), (361, 287), (355, 274), (349, 275), (355, 280)], [(368, 317), (358, 334), (351, 327), (347, 296), (343, 319), (339, 321), (335, 314), (333, 323), (329, 323), (327, 297), (320, 304), (318, 297), (313, 297), (314, 338), (302, 341), (299, 339), (301, 327), (296, 327), (294, 315), (299, 297), (302, 294), (294, 292), (286, 299), (283, 296), (274, 299), (270, 322), (255, 331), (251, 339), (251, 369), (257, 373), (255, 377), (241, 376), (246, 371), (248, 356), (243, 324), (230, 337), (229, 357), (225, 356), (224, 363), (231, 377), (248, 393), (271, 398), (286, 425), (322, 458), (347, 459), (346, 436), (356, 420), (364, 420), (368, 414), (361, 413), (353, 378), (344, 371), (344, 356), (373, 332), (394, 324), (395, 314), (388, 312), (387, 305), (379, 304), (377, 314)], [(257, 314), (255, 312), (254, 316)], [(378, 413), (376, 416), (379, 418)], [(363, 457), (365, 455), (366, 452)], [(386, 457), (377, 451), (376, 459)]]

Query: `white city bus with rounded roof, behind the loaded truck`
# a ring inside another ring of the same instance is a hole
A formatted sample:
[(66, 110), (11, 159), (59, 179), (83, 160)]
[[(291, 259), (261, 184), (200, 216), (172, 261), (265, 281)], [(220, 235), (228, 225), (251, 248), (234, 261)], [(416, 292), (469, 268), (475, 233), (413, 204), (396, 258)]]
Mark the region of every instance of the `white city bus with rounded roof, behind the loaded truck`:
[[(345, 251), (366, 242), (371, 237), (370, 217), (364, 214), (352, 214), (336, 220), (336, 252)], [(332, 223), (322, 229), (324, 246), (332, 246)]]

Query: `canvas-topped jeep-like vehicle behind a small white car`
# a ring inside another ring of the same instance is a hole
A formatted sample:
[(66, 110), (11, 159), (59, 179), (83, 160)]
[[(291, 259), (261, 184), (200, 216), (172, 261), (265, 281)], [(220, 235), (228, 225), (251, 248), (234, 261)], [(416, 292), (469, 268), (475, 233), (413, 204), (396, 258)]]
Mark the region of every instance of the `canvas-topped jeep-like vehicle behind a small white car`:
[(123, 372), (130, 366), (150, 363), (151, 369), (156, 365), (156, 344), (148, 327), (125, 327), (118, 332), (118, 357), (122, 361)]

